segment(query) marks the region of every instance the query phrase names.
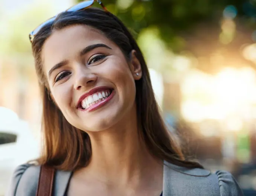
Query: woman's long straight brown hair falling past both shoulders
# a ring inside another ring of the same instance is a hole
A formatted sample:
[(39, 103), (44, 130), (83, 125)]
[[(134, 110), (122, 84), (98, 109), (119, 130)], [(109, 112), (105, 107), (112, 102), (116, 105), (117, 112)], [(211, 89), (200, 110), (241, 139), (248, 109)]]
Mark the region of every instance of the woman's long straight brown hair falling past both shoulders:
[(38, 160), (39, 163), (53, 166), (56, 169), (73, 170), (86, 166), (90, 161), (90, 138), (84, 131), (70, 125), (50, 99), (50, 91), (41, 61), (41, 49), (53, 30), (77, 24), (88, 25), (100, 30), (119, 46), (127, 58), (129, 58), (131, 50), (136, 50), (136, 56), (142, 66), (142, 78), (136, 81), (137, 117), (138, 122), (142, 125), (140, 137), (149, 152), (159, 159), (178, 166), (202, 168), (199, 163), (184, 159), (180, 147), (177, 146), (166, 128), (154, 97), (145, 59), (133, 36), (116, 16), (97, 8), (61, 13), (56, 20), (44, 26), (32, 42), (35, 68), (43, 98), (44, 150)]

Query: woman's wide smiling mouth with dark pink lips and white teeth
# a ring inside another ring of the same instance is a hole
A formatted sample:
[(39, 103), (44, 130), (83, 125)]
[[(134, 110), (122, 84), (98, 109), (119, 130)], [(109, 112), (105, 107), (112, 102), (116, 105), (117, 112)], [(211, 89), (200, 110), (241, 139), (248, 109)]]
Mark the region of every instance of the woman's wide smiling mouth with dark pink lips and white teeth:
[(78, 109), (82, 111), (93, 111), (105, 105), (114, 96), (114, 89), (105, 88), (97, 90), (95, 93), (86, 96), (78, 104)]

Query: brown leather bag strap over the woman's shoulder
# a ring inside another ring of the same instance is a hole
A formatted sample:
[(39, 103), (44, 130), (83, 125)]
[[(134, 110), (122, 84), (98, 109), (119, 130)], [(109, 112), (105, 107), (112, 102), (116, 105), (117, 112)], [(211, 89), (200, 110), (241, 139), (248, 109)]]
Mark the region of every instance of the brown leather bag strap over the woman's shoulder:
[(52, 196), (54, 174), (54, 168), (41, 166), (37, 186), (37, 196)]

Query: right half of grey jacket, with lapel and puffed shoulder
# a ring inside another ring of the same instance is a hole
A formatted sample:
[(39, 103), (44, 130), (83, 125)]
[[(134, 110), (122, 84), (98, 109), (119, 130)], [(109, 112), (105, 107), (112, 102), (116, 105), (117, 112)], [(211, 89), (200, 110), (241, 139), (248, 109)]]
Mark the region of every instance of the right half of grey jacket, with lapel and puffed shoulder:
[(226, 171), (188, 169), (165, 162), (164, 189), (174, 195), (243, 196), (233, 176)]

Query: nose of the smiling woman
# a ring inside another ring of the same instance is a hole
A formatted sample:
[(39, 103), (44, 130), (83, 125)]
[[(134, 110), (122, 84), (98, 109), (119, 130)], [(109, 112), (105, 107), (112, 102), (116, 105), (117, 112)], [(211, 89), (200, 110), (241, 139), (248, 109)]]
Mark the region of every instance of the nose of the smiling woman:
[(90, 72), (90, 70), (79, 70), (76, 73), (75, 76), (75, 82), (74, 82), (74, 89), (80, 90), (83, 87), (87, 87), (89, 85), (93, 85), (97, 81), (96, 74), (93, 74)]

